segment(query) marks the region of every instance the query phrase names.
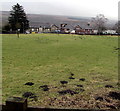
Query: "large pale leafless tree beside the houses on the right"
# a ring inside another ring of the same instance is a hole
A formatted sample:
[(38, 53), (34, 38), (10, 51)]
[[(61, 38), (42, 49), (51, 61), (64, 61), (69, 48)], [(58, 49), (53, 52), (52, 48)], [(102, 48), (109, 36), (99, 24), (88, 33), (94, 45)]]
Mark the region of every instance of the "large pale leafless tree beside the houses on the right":
[(107, 20), (108, 19), (105, 18), (103, 14), (99, 14), (95, 18), (92, 18), (93, 27), (98, 30), (98, 34), (102, 34), (102, 32), (106, 29), (105, 23)]

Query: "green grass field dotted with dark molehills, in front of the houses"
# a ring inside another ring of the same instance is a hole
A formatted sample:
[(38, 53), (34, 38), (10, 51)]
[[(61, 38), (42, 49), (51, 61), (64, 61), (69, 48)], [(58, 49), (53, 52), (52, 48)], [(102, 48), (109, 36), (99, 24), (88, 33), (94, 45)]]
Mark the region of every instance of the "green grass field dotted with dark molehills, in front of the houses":
[[(97, 94), (117, 90), (117, 36), (21, 34), (17, 38), (6, 34), (2, 41), (3, 103), (10, 96), (22, 97), (25, 92), (32, 92), (37, 99), (28, 98), (29, 105), (61, 107), (57, 100), (63, 97), (89, 101)], [(71, 73), (75, 79), (69, 79)], [(63, 86), (60, 81), (68, 84)], [(34, 85), (24, 85), (27, 82)], [(75, 91), (79, 84), (85, 91), (73, 96), (58, 93), (65, 89)], [(105, 88), (108, 84), (114, 88)], [(41, 85), (48, 85), (49, 91), (43, 91)], [(49, 102), (55, 98), (56, 103), (51, 105)]]

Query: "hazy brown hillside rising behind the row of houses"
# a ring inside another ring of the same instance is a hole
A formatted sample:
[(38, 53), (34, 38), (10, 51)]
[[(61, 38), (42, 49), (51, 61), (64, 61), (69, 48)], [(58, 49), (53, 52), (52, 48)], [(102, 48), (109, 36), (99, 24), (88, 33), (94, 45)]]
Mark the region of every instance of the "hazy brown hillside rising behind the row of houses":
[[(2, 11), (2, 20), (0, 20), (0, 27), (5, 25), (8, 20), (9, 12)], [(91, 20), (90, 17), (75, 17), (75, 16), (59, 16), (59, 15), (43, 15), (43, 14), (27, 14), (30, 21), (30, 26), (39, 27), (43, 24), (56, 24), (60, 26), (61, 23), (67, 23), (69, 25), (80, 24), (81, 27), (85, 28), (87, 23)], [(112, 27), (116, 21), (109, 20), (108, 26)]]

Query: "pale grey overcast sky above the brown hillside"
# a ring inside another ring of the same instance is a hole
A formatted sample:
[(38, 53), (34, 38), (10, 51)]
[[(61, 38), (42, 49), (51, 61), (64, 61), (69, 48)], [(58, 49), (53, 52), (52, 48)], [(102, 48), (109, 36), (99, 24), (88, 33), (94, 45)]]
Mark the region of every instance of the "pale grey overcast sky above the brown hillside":
[[(17, 2), (16, 2), (17, 1)], [(118, 18), (120, 0), (1, 0), (3, 11), (10, 11), (19, 3), (26, 13), (95, 17), (104, 14), (108, 18)]]

